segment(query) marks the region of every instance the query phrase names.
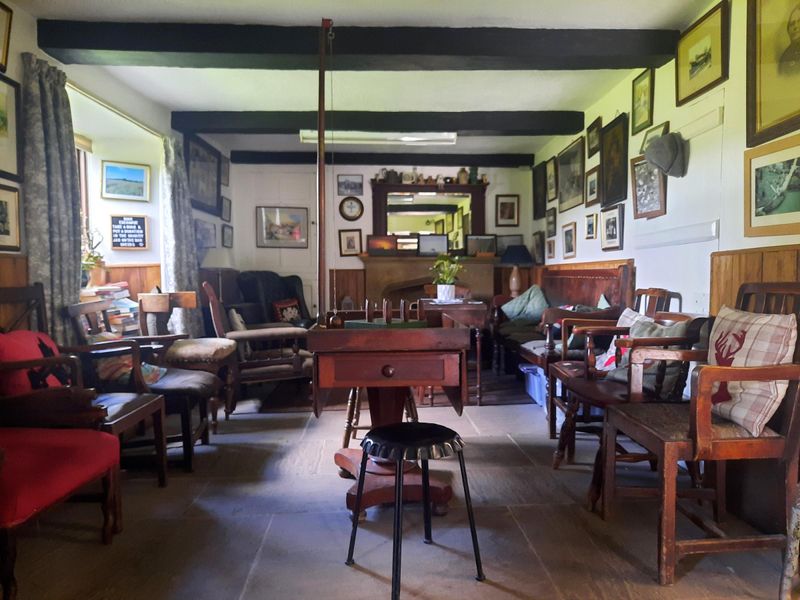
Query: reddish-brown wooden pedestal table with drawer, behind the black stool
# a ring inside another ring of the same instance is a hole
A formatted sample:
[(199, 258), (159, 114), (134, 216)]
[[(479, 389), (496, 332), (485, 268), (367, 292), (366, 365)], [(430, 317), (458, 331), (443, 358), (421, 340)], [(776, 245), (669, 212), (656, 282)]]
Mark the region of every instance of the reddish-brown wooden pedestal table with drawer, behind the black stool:
[[(399, 423), (412, 388), (437, 385), (444, 389), (458, 415), (467, 400), (469, 330), (312, 329), (308, 349), (314, 353), (314, 403), (324, 404), (336, 388), (366, 388), (372, 426)], [(361, 450), (342, 448), (335, 463), (358, 476)], [(394, 463), (371, 460), (364, 481), (362, 509), (394, 501)], [(355, 508), (357, 485), (347, 492), (347, 508)], [(449, 484), (430, 479), (431, 501), (437, 514), (446, 512), (453, 496)], [(422, 500), (422, 473), (409, 463), (403, 476), (403, 498)]]

